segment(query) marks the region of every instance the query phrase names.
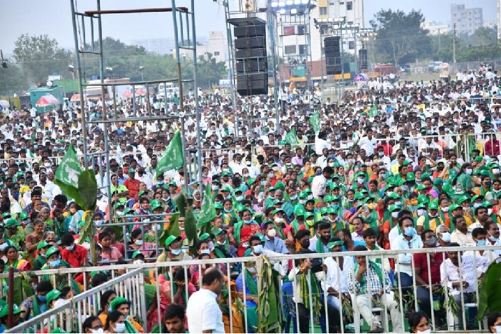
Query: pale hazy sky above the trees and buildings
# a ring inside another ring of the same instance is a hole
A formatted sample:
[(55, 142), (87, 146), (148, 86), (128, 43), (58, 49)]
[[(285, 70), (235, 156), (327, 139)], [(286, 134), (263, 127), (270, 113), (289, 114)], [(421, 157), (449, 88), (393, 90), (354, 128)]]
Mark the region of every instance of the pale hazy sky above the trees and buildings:
[[(232, 0), (229, 0), (232, 1)], [(222, 0), (218, 0), (222, 2)], [(183, 6), (188, 1), (177, 1)], [(451, 3), (465, 3), (467, 8), (484, 9), (484, 20), (497, 20), (496, 0), (365, 0), (365, 21), (373, 18), (381, 8), (421, 9), (426, 20), (447, 23), (450, 21)], [(95, 0), (80, 0), (78, 10), (95, 9)], [(160, 8), (170, 6), (166, 0), (102, 0), (102, 9)], [(419, 6), (419, 8), (417, 7)], [(197, 36), (207, 36), (208, 31), (225, 30), (223, 6), (212, 0), (195, 0)], [(90, 24), (89, 34), (90, 34)], [(10, 54), (14, 42), (22, 33), (30, 35), (47, 34), (56, 38), (61, 47), (73, 50), (73, 26), (71, 23), (70, 0), (15, 0), (5, 1), (0, 19), (0, 49)], [(103, 18), (103, 36), (119, 38), (125, 43), (145, 38), (172, 37), (171, 13), (146, 13), (128, 15), (106, 15)]]

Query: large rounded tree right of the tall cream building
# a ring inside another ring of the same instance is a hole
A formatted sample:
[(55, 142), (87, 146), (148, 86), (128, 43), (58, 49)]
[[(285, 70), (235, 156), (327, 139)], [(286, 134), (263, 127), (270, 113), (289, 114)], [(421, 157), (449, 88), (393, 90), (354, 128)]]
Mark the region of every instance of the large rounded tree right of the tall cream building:
[(408, 63), (417, 54), (427, 53), (430, 41), (428, 31), (421, 28), (423, 22), (420, 10), (411, 10), (408, 14), (403, 10), (380, 10), (370, 22), (377, 32), (375, 52), (382, 60), (395, 64)]

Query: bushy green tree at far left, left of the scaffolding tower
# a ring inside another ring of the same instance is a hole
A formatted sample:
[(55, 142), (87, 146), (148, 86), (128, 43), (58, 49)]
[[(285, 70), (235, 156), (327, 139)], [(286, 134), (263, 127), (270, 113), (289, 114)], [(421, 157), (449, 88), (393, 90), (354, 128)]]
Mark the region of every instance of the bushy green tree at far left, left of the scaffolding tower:
[(31, 82), (45, 82), (48, 75), (66, 73), (72, 54), (47, 35), (21, 35), (15, 41), (13, 53)]

